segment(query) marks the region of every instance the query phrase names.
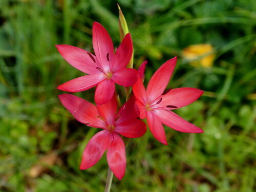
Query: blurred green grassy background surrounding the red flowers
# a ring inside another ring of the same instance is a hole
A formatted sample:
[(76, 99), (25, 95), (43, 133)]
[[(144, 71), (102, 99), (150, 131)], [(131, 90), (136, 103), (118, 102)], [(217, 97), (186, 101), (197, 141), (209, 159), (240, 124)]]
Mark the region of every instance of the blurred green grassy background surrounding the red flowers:
[[(132, 139), (125, 177), (114, 177), (112, 191), (255, 191), (254, 0), (1, 0), (0, 191), (104, 190), (105, 155), (88, 170), (78, 168), (98, 129), (74, 120), (59, 102), (56, 87), (82, 73), (54, 45), (93, 52), (96, 21), (117, 47), (116, 3), (132, 34), (134, 67), (148, 60), (145, 83), (177, 55), (169, 87), (205, 91), (175, 110), (205, 133), (165, 127), (167, 146), (150, 131)], [(93, 101), (93, 94), (76, 95)]]

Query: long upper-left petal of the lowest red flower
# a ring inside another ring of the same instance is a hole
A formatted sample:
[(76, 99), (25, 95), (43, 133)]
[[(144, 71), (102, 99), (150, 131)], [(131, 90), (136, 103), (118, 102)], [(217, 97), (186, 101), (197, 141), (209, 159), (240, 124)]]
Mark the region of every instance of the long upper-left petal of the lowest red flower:
[(71, 94), (59, 95), (59, 99), (76, 120), (88, 126), (104, 129), (105, 123), (96, 117), (100, 114), (94, 104)]

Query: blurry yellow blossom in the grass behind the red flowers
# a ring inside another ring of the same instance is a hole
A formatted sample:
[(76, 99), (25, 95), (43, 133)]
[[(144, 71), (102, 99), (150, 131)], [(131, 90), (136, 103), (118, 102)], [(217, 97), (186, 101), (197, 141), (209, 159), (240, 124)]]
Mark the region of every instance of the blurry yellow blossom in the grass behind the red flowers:
[(182, 50), (182, 55), (194, 67), (210, 68), (215, 58), (214, 48), (210, 44), (188, 46)]

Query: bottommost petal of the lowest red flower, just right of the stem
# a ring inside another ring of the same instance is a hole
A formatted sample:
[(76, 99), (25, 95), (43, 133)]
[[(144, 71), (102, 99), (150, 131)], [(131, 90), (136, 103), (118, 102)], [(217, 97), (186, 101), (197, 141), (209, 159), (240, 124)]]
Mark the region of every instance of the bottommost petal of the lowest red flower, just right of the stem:
[(112, 137), (113, 140), (106, 152), (106, 159), (114, 175), (117, 179), (121, 180), (124, 176), (126, 166), (125, 146), (118, 134), (113, 133), (110, 137)]

